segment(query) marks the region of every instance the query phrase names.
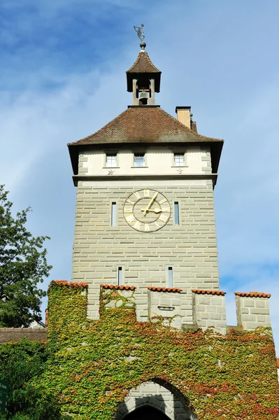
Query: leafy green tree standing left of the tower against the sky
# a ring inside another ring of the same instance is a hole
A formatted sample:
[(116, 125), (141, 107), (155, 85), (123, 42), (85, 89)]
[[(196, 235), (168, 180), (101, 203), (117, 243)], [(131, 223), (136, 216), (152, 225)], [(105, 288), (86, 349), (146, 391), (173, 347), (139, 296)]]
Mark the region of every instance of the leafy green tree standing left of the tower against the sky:
[(41, 318), (46, 293), (37, 285), (52, 267), (43, 248), (50, 238), (34, 237), (24, 226), (30, 207), (13, 218), (12, 206), (8, 191), (0, 186), (0, 327), (18, 328)]

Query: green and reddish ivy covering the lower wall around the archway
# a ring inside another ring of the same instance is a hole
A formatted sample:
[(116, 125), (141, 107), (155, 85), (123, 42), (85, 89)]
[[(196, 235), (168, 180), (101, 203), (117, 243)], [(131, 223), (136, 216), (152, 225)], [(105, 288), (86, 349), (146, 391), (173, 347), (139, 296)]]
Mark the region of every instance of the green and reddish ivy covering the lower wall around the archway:
[(129, 292), (101, 287), (101, 316), (92, 321), (85, 284), (51, 283), (52, 356), (37, 385), (56, 395), (64, 416), (113, 420), (131, 388), (159, 378), (189, 398), (198, 419), (278, 419), (271, 330), (224, 336), (181, 332), (161, 319), (139, 323)]

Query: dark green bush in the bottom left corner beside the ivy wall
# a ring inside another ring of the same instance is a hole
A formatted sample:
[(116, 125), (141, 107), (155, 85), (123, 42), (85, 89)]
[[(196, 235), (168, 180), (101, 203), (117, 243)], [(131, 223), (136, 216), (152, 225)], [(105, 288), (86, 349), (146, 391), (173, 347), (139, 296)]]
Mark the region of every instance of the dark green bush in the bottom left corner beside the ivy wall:
[(0, 378), (8, 381), (8, 412), (0, 419), (59, 420), (57, 398), (50, 391), (34, 386), (46, 367), (45, 344), (22, 340), (0, 346)]

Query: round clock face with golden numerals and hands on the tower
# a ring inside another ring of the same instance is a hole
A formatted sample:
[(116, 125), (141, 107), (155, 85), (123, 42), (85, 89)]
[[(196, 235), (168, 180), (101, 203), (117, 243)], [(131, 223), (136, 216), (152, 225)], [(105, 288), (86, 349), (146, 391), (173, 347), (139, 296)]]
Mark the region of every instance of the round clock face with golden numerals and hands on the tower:
[(155, 232), (168, 223), (171, 206), (159, 191), (138, 190), (125, 201), (123, 214), (131, 228), (139, 232)]

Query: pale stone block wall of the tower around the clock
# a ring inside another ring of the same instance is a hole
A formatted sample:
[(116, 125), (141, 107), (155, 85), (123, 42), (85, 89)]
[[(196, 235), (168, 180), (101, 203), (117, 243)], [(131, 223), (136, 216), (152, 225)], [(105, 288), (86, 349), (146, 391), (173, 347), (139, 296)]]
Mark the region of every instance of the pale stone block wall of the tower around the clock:
[[(138, 232), (122, 213), (129, 194), (141, 188), (162, 192), (171, 205), (169, 222), (157, 232)], [(174, 225), (173, 206), (179, 203), (180, 225)], [(110, 225), (111, 203), (117, 204), (117, 226)], [(99, 286), (122, 283), (136, 286), (139, 318), (148, 318), (148, 286), (181, 288), (183, 322), (192, 322), (192, 288), (219, 289), (212, 181), (79, 181), (73, 245), (73, 281), (89, 285), (88, 315), (98, 318)]]

